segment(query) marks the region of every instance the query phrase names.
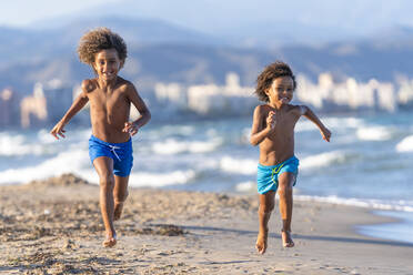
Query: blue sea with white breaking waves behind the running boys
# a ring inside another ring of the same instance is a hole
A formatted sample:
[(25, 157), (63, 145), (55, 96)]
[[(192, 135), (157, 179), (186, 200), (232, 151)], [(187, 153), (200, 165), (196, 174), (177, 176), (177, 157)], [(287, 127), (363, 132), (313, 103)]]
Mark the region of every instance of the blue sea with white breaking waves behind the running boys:
[[(299, 200), (413, 213), (412, 113), (323, 116), (331, 142), (302, 118), (295, 126)], [(131, 186), (255, 193), (259, 149), (249, 143), (251, 118), (149, 123), (132, 138)], [(0, 184), (75, 173), (97, 183), (89, 160), (90, 129), (0, 131)]]

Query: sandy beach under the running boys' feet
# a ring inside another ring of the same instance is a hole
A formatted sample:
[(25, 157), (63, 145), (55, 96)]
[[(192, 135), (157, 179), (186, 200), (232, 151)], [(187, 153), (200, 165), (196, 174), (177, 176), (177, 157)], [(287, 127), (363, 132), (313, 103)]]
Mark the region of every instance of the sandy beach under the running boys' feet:
[(356, 233), (392, 222), (367, 208), (295, 201), (295, 247), (276, 211), (259, 255), (256, 195), (131, 189), (113, 248), (94, 184), (63, 175), (0, 197), (0, 274), (413, 274), (413, 245)]

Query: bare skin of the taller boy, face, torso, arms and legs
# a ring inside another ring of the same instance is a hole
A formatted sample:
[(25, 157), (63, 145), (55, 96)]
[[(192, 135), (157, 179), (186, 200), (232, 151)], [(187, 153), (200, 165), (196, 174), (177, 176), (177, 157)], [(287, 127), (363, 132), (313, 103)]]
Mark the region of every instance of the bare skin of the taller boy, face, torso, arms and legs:
[[(95, 54), (93, 69), (98, 78), (82, 82), (82, 92), (50, 132), (56, 139), (64, 138), (64, 126), (88, 102), (92, 133), (102, 141), (127, 142), (148, 123), (151, 114), (137, 89), (131, 82), (118, 77), (123, 62), (115, 49), (101, 50)], [(129, 121), (131, 104), (140, 113), (133, 122)], [(99, 175), (100, 207), (107, 235), (103, 246), (113, 246), (117, 243), (113, 221), (121, 217), (128, 197), (129, 176), (114, 175), (113, 160), (107, 156), (97, 157), (93, 165)]]

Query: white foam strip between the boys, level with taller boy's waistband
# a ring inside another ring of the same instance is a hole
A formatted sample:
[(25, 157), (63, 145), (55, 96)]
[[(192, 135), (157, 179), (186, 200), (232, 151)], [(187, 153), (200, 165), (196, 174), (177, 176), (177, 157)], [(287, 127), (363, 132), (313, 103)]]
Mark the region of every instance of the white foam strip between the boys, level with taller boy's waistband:
[(179, 154), (179, 153), (206, 153), (212, 152), (222, 144), (221, 139), (209, 141), (177, 141), (168, 139), (163, 142), (154, 142), (152, 151), (157, 154)]

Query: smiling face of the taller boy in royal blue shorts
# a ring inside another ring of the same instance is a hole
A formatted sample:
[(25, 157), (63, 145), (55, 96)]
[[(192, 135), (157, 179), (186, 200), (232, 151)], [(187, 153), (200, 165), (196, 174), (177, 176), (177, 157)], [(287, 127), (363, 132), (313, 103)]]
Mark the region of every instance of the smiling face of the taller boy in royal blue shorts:
[(94, 57), (93, 69), (102, 80), (115, 79), (121, 67), (122, 61), (115, 49), (101, 50)]

